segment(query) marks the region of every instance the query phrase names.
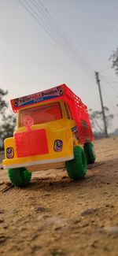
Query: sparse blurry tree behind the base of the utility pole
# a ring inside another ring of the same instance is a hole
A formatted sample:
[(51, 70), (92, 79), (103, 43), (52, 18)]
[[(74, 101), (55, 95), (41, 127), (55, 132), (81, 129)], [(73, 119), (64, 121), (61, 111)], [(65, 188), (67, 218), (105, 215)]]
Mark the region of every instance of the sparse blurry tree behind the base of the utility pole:
[[(104, 106), (105, 110), (105, 121), (107, 129), (111, 126), (111, 121), (113, 119), (113, 115), (109, 113), (109, 108)], [(101, 111), (93, 111), (92, 109), (89, 109), (90, 113), (90, 122), (94, 131), (94, 134), (98, 134), (100, 137), (105, 136), (105, 128), (104, 128), (104, 122), (103, 122), (103, 115)]]

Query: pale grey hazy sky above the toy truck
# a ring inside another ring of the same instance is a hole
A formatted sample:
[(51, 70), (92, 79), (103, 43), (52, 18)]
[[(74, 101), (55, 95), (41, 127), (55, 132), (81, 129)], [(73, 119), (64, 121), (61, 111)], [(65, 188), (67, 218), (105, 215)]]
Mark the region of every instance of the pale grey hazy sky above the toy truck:
[(117, 0), (0, 0), (0, 88), (6, 100), (66, 83), (88, 109), (104, 106), (117, 128)]

